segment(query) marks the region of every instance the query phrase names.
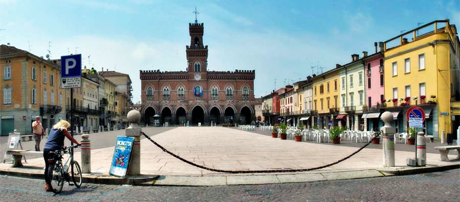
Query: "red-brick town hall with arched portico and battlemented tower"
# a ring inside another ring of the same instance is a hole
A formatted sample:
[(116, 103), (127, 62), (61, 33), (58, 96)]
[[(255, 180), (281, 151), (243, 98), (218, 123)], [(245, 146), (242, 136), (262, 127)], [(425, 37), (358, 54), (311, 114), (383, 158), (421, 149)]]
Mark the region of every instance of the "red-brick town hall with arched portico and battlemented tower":
[(189, 24), (186, 71), (141, 70), (144, 124), (250, 124), (255, 70), (208, 71), (203, 23)]

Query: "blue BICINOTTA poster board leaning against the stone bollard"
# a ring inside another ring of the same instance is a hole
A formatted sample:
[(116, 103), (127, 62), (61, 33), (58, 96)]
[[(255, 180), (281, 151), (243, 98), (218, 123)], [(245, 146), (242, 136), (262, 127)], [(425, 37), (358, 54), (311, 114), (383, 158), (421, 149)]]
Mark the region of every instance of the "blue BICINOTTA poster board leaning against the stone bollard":
[(129, 159), (131, 157), (133, 137), (118, 136), (113, 152), (112, 164), (109, 174), (117, 177), (125, 177), (128, 171)]

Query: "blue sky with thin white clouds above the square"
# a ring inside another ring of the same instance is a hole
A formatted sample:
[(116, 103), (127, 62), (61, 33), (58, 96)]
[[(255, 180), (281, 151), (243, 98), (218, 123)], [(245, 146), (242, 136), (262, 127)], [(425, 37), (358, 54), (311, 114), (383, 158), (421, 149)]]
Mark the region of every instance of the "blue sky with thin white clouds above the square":
[(374, 42), (420, 23), (449, 18), (460, 28), (460, 3), (450, 0), (0, 0), (0, 43), (52, 59), (82, 54), (88, 68), (127, 73), (136, 103), (139, 70), (186, 70), (195, 7), (208, 71), (255, 70), (255, 97), (375, 53)]

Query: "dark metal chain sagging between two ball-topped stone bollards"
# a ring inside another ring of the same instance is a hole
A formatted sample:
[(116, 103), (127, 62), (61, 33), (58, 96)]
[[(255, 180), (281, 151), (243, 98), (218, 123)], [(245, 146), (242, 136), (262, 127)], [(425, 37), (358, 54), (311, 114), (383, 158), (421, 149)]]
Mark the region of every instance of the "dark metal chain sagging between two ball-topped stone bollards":
[(180, 161), (183, 161), (187, 164), (190, 164), (192, 166), (195, 166), (195, 167), (198, 167), (198, 168), (201, 168), (201, 169), (205, 169), (205, 170), (208, 170), (208, 171), (213, 171), (213, 172), (219, 172), (219, 173), (287, 173), (287, 172), (302, 172), (302, 171), (312, 171), (312, 170), (318, 170), (318, 169), (322, 169), (322, 168), (327, 168), (327, 167), (330, 167), (330, 166), (333, 166), (333, 165), (336, 165), (342, 161), (345, 161), (347, 159), (349, 159), (350, 157), (352, 157), (353, 155), (357, 154), (359, 151), (361, 151), (363, 148), (365, 148), (367, 145), (369, 145), (375, 138), (379, 137), (381, 135), (381, 133), (383, 133), (383, 131), (380, 131), (380, 132), (376, 132), (374, 135), (374, 137), (369, 140), (369, 142), (367, 142), (366, 144), (364, 144), (363, 146), (361, 146), (358, 150), (354, 151), (352, 154), (336, 161), (336, 162), (333, 162), (333, 163), (330, 163), (330, 164), (326, 164), (324, 166), (318, 166), (318, 167), (314, 167), (314, 168), (302, 168), (302, 169), (273, 169), (273, 170), (220, 170), (220, 169), (214, 169), (214, 168), (208, 168), (208, 167), (205, 167), (205, 166), (202, 166), (202, 165), (198, 165), (196, 163), (193, 163), (187, 159), (184, 159), (182, 157), (179, 157), (178, 155), (172, 153), (171, 151), (169, 151), (168, 149), (166, 149), (165, 147), (161, 146), (159, 143), (157, 143), (156, 141), (154, 141), (152, 138), (150, 138), (146, 133), (144, 132), (141, 132), (142, 135), (144, 135), (147, 139), (149, 139), (152, 143), (154, 143), (156, 146), (160, 147), (161, 150), (163, 150), (164, 152), (168, 153), (169, 155), (175, 157), (176, 159), (180, 160)]

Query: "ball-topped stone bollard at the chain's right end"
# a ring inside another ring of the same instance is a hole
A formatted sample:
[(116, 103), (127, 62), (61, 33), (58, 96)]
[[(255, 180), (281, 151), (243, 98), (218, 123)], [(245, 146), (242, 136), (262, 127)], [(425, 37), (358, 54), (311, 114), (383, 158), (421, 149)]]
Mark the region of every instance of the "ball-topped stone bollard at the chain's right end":
[(380, 117), (385, 123), (385, 125), (380, 128), (380, 130), (383, 131), (384, 166), (394, 167), (394, 133), (396, 130), (391, 126), (393, 114), (391, 114), (391, 112), (384, 112)]

